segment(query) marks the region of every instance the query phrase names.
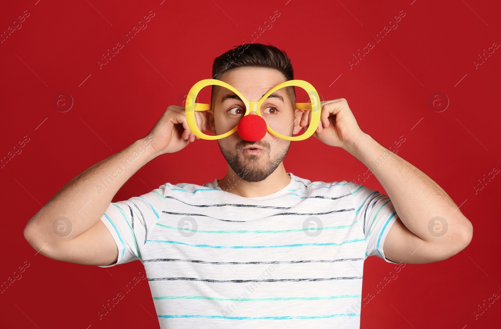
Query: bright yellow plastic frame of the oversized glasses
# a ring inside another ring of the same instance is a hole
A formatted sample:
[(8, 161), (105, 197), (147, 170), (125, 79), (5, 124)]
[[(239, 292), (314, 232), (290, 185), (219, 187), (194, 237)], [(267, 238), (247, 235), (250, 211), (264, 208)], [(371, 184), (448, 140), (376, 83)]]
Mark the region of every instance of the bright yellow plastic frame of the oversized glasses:
[(238, 90), (233, 88), (233, 86), (231, 86), (223, 81), (216, 80), (216, 79), (204, 79), (204, 80), (200, 80), (199, 82), (194, 84), (193, 87), (191, 87), (191, 89), (188, 92), (188, 95), (186, 97), (186, 103), (185, 103), (185, 114), (186, 114), (186, 121), (188, 123), (188, 127), (195, 136), (197, 136), (201, 139), (207, 139), (207, 140), (221, 139), (221, 138), (224, 138), (224, 137), (227, 137), (227, 136), (233, 134), (235, 131), (237, 131), (237, 128), (238, 128), (238, 126), (236, 125), (230, 131), (228, 131), (224, 134), (215, 135), (215, 136), (206, 135), (203, 132), (201, 132), (200, 129), (198, 129), (198, 126), (196, 125), (196, 122), (195, 122), (195, 112), (194, 111), (206, 111), (206, 110), (210, 110), (211, 107), (210, 107), (210, 104), (196, 103), (195, 102), (196, 96), (198, 95), (198, 93), (200, 92), (200, 90), (202, 88), (204, 88), (206, 86), (213, 86), (213, 85), (227, 88), (227, 89), (231, 90), (232, 92), (234, 92), (235, 95), (240, 97), (243, 104), (245, 105), (245, 113), (244, 113), (243, 117), (250, 114), (250, 112), (253, 112), (253, 111), (255, 111), (257, 113), (257, 115), (259, 115), (260, 117), (263, 117), (261, 115), (261, 111), (259, 111), (258, 109), (261, 109), (261, 105), (263, 105), (263, 103), (268, 98), (268, 96), (270, 96), (272, 93), (274, 93), (275, 91), (277, 91), (279, 89), (282, 89), (284, 87), (290, 87), (290, 86), (296, 86), (296, 87), (303, 88), (310, 96), (310, 102), (309, 103), (296, 103), (296, 108), (300, 109), (300, 110), (305, 110), (305, 111), (312, 111), (312, 118), (311, 118), (310, 126), (303, 134), (301, 134), (299, 136), (286, 136), (286, 135), (282, 135), (282, 134), (277, 133), (272, 128), (270, 128), (270, 126), (268, 126), (268, 124), (266, 124), (267, 131), (269, 131), (272, 135), (280, 137), (282, 139), (285, 139), (288, 141), (305, 140), (305, 139), (309, 138), (311, 135), (313, 135), (313, 133), (315, 132), (315, 130), (317, 130), (318, 125), (320, 123), (320, 112), (321, 112), (320, 111), (320, 97), (318, 96), (318, 93), (315, 90), (315, 88), (310, 83), (308, 83), (304, 80), (289, 80), (289, 81), (283, 82), (283, 83), (273, 87), (259, 101), (250, 102)]

